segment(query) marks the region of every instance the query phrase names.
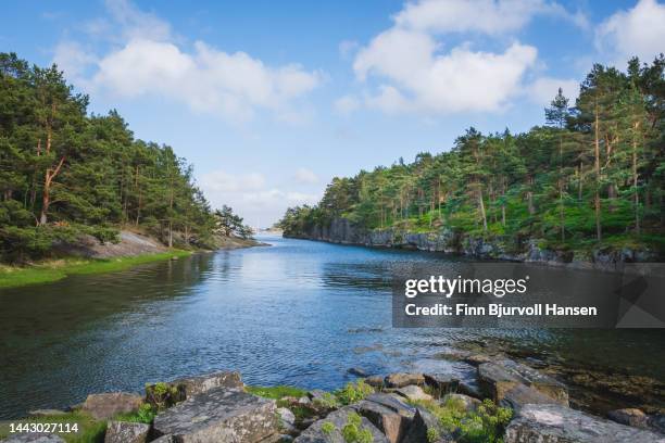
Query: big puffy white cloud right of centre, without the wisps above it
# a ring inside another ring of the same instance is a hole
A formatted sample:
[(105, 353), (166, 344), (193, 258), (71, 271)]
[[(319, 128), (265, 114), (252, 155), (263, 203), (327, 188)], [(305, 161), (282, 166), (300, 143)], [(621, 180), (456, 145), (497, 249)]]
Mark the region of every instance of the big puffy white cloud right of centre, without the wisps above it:
[(503, 53), (453, 48), (436, 53), (437, 43), (423, 33), (390, 29), (364, 48), (353, 65), (359, 78), (376, 74), (391, 80), (367, 103), (389, 112), (438, 113), (497, 111), (515, 96), (537, 50), (513, 43)]

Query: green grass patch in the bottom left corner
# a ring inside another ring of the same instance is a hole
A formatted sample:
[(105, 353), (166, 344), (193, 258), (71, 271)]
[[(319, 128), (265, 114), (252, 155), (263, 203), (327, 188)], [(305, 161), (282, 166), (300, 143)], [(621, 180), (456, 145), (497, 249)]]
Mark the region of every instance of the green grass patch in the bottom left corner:
[[(104, 441), (104, 432), (106, 431), (106, 422), (93, 419), (87, 414), (80, 412), (67, 413), (64, 415), (32, 417), (20, 420), (11, 420), (13, 423), (76, 423), (78, 432), (60, 433), (67, 443), (101, 443)], [(0, 440), (4, 440), (13, 435), (10, 433), (10, 425), (8, 421), (0, 423)]]

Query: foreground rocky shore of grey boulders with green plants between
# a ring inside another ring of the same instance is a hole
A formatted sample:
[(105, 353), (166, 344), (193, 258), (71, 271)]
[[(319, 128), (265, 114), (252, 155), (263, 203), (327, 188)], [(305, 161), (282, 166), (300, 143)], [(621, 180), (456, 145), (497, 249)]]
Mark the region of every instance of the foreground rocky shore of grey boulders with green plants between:
[[(627, 408), (593, 416), (570, 408), (567, 387), (530, 366), (485, 354), (460, 358), (474, 366), (473, 377), (363, 374), (324, 392), (247, 387), (240, 374), (221, 371), (30, 414), (47, 422), (59, 414), (91, 417), (104, 426), (90, 441), (105, 443), (665, 442), (663, 415)], [(7, 442), (70, 441), (62, 435), (13, 433)]]

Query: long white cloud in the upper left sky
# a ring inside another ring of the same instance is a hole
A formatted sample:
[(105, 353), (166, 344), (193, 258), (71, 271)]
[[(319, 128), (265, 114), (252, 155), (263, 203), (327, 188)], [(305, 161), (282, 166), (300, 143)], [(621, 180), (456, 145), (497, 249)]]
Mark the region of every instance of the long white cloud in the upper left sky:
[[(298, 115), (302, 106), (296, 102), (323, 80), (322, 73), (298, 64), (269, 66), (244, 52), (225, 52), (203, 41), (187, 50), (173, 37), (170, 25), (153, 14), (126, 0), (106, 4), (111, 28), (122, 36), (120, 45), (100, 56), (86, 55), (75, 42), (61, 43), (55, 51), (55, 62), (68, 75), (80, 75), (92, 63), (93, 74), (78, 81), (90, 89), (127, 98), (166, 97), (235, 122), (249, 119), (260, 110), (296, 122), (303, 119)], [(91, 22), (88, 31), (108, 33), (106, 25), (105, 20)]]

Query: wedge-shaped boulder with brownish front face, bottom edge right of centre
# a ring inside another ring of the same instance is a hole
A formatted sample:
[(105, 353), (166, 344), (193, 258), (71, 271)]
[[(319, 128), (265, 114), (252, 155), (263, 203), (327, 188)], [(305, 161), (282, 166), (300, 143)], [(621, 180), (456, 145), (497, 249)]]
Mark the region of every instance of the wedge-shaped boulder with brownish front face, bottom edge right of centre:
[(402, 441), (415, 415), (412, 406), (390, 394), (373, 394), (354, 407), (377, 427), (390, 443)]

